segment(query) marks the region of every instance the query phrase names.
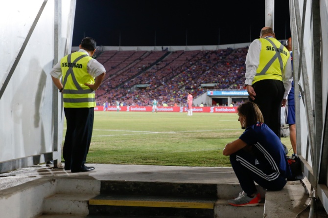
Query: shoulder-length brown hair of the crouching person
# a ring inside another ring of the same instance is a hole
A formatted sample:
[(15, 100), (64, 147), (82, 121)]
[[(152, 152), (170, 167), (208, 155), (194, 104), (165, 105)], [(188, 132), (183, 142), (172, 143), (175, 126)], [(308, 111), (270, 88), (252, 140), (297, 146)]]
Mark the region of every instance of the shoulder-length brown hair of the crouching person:
[(256, 124), (257, 122), (263, 123), (263, 115), (254, 102), (245, 102), (238, 106), (238, 115), (245, 117), (245, 128)]

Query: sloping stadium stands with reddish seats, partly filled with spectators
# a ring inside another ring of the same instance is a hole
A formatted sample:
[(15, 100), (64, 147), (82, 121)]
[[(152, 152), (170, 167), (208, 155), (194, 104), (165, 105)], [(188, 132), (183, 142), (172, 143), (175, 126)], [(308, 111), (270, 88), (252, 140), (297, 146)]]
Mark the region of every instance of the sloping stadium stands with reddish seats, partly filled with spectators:
[(154, 98), (169, 106), (186, 105), (211, 89), (243, 89), (247, 47), (192, 51), (104, 51), (96, 59), (106, 77), (96, 91), (97, 105), (116, 100), (124, 105), (150, 105)]

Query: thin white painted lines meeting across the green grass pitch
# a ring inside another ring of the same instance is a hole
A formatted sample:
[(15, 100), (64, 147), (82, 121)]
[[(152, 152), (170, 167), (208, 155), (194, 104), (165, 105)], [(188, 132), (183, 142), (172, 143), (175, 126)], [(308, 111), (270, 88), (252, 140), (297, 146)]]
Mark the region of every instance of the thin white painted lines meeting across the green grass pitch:
[(169, 132), (158, 132), (158, 131), (129, 131), (129, 130), (97, 130), (94, 131), (119, 131), (119, 132), (139, 132), (139, 133), (126, 133), (126, 134), (110, 134), (110, 135), (93, 135), (92, 137), (111, 137), (111, 136), (120, 136), (120, 135), (144, 135), (144, 134), (176, 134), (176, 133), (185, 133), (185, 132), (206, 132), (206, 131), (234, 131), (240, 129), (227, 129), (227, 130), (195, 130), (195, 131), (169, 131)]

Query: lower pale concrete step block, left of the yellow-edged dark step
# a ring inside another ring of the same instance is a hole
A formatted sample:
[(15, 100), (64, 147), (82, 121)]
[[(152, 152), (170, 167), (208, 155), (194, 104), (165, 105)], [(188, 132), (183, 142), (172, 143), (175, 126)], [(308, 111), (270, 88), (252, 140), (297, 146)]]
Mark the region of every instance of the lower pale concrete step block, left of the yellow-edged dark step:
[(57, 193), (44, 199), (43, 214), (67, 214), (85, 215), (89, 214), (88, 202), (94, 194), (62, 194)]

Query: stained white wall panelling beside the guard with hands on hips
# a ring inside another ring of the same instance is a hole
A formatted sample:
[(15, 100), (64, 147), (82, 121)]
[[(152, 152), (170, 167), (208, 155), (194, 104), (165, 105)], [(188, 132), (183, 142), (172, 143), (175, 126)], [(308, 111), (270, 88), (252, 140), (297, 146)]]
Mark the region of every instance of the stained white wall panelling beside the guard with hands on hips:
[[(72, 34), (70, 31), (67, 36), (70, 2), (65, 1), (59, 12), (63, 45)], [(53, 151), (53, 84), (49, 72), (56, 46), (55, 0), (11, 0), (1, 7), (0, 82), (6, 88), (0, 98), (0, 162), (5, 162)], [(60, 50), (64, 56), (63, 45)], [(12, 76), (5, 83), (9, 72)]]

